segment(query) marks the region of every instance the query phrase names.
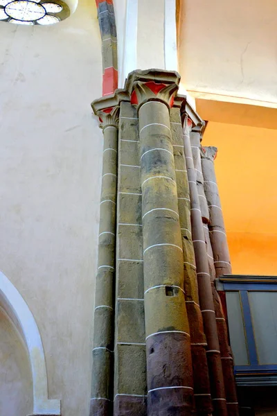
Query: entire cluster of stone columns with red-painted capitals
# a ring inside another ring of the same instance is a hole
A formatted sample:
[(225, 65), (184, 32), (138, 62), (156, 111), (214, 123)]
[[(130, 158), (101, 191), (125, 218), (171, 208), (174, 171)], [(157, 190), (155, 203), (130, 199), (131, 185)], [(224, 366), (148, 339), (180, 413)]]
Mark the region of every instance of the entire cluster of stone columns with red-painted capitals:
[(231, 354), (213, 285), (203, 121), (178, 84), (175, 72), (134, 71), (92, 104), (104, 154), (90, 416), (238, 416), (232, 360), (222, 363)]

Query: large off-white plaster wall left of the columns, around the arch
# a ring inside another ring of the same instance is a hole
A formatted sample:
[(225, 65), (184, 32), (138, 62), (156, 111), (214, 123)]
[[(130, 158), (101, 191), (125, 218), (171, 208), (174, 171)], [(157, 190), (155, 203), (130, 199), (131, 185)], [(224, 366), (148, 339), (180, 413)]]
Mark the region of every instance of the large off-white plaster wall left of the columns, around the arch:
[(85, 416), (102, 164), (90, 108), (102, 84), (95, 3), (80, 0), (53, 26), (1, 22), (0, 57), (0, 270), (37, 321), (49, 398), (62, 399), (63, 416)]

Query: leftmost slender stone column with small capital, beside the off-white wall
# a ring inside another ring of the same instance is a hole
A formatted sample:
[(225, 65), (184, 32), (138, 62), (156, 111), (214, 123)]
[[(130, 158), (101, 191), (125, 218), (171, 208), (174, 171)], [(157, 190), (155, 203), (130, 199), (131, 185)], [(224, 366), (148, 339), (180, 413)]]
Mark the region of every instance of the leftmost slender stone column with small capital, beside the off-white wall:
[(90, 416), (111, 415), (114, 374), (114, 276), (118, 109), (98, 112), (104, 135)]

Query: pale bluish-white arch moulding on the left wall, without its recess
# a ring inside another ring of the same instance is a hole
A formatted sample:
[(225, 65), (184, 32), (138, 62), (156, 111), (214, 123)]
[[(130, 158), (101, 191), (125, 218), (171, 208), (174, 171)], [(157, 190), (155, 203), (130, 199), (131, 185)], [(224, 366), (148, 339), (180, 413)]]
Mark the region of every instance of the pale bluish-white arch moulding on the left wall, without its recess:
[(28, 350), (33, 376), (33, 415), (60, 416), (60, 400), (48, 399), (46, 361), (39, 329), (23, 297), (0, 272), (0, 304), (21, 332)]

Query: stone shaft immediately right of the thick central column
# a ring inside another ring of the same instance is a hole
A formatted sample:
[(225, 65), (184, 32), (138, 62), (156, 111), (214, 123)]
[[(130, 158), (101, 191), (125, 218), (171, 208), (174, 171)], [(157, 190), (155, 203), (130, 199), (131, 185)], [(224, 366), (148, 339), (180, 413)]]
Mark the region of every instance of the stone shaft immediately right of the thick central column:
[(186, 292), (186, 310), (188, 311), (188, 322), (190, 326), (195, 407), (197, 415), (204, 416), (210, 415), (213, 412), (213, 406), (211, 403), (210, 380), (206, 358), (207, 343), (204, 334), (202, 313), (199, 306), (195, 252), (190, 225), (190, 189), (188, 187), (180, 114), (180, 105), (183, 102), (184, 98), (175, 99), (175, 105), (170, 110), (170, 125), (177, 181), (179, 221), (183, 243), (184, 289)]

